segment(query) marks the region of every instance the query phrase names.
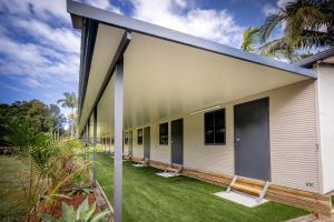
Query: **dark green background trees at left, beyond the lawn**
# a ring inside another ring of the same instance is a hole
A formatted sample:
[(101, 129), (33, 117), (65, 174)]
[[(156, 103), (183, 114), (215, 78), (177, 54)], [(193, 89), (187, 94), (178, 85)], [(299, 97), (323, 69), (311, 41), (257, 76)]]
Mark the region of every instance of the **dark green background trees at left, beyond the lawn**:
[(55, 104), (47, 105), (38, 100), (0, 104), (0, 145), (7, 145), (12, 141), (8, 138), (16, 137), (20, 140), (22, 138), (20, 133), (29, 133), (27, 138), (30, 139), (38, 132), (63, 133), (65, 122), (65, 117)]

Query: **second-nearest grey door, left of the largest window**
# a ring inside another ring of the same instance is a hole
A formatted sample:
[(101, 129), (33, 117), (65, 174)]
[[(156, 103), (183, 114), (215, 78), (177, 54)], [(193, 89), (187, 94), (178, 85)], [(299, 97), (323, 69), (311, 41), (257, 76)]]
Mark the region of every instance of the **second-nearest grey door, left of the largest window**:
[(171, 122), (171, 163), (184, 164), (184, 120)]

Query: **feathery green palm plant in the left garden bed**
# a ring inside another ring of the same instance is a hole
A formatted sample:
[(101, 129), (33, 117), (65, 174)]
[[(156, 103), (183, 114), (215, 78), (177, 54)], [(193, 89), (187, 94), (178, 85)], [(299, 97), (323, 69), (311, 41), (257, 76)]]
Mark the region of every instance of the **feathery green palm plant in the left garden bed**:
[(60, 191), (88, 173), (90, 163), (82, 160), (85, 149), (77, 139), (32, 133), (24, 124), (12, 129), (9, 139), (17, 157), (29, 169), (24, 175), (29, 182), (21, 183), (27, 212), (38, 212), (41, 200), (46, 200), (45, 208), (52, 209)]

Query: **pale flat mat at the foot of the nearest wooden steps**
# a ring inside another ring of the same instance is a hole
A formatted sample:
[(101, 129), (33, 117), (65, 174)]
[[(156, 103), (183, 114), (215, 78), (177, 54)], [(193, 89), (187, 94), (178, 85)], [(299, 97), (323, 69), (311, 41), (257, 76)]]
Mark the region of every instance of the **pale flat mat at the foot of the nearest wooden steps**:
[(214, 193), (214, 195), (238, 203), (240, 205), (245, 205), (247, 208), (254, 208), (267, 202), (267, 200), (265, 199), (263, 199), (261, 202), (257, 202), (257, 196), (248, 195), (246, 193), (240, 193), (237, 191), (229, 191), (228, 193), (223, 191), (223, 192)]

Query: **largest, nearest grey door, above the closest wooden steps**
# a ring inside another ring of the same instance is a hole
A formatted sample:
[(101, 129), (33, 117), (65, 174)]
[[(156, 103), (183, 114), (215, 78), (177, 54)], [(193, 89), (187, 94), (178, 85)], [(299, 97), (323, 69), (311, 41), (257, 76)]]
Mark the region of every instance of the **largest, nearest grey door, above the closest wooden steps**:
[(235, 173), (271, 181), (268, 98), (234, 107)]

